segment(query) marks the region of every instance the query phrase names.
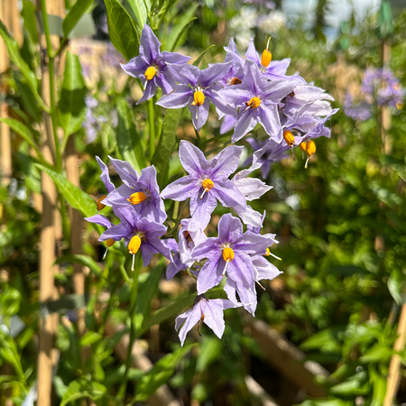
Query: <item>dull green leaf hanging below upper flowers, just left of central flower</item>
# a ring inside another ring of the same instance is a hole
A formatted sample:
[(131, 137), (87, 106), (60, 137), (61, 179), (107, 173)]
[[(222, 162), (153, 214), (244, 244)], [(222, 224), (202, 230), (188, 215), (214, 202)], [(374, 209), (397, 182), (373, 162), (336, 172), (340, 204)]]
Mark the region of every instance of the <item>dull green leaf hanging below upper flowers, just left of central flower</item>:
[(171, 154), (177, 142), (177, 131), (180, 125), (182, 109), (167, 109), (163, 118), (160, 141), (152, 156), (152, 163), (159, 175), (160, 184), (168, 174), (168, 166)]

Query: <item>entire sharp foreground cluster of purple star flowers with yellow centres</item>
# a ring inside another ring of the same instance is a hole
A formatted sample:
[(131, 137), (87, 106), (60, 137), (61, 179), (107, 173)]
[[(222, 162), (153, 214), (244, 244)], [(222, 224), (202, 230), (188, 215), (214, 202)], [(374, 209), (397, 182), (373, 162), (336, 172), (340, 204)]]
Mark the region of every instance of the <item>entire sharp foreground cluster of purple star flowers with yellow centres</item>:
[[(197, 323), (198, 327), (206, 323), (221, 337), (224, 309), (244, 307), (254, 315), (256, 284), (262, 287), (261, 280), (272, 280), (281, 273), (266, 259), (272, 255), (269, 247), (277, 241), (275, 235), (261, 234), (265, 213), (258, 213), (248, 204), (272, 187), (251, 178), (252, 172), (269, 171), (272, 161), (280, 160), (295, 146), (300, 145), (309, 157), (316, 152), (312, 139), (330, 134), (325, 124), (336, 112), (329, 103), (332, 97), (299, 75), (288, 76), (290, 60), (272, 61), (268, 45), (260, 57), (251, 41), (243, 58), (231, 39), (224, 62), (200, 70), (186, 63), (189, 57), (161, 51), (161, 43), (145, 25), (139, 56), (123, 65), (125, 72), (143, 82), (140, 102), (151, 99), (161, 88), (163, 96), (157, 104), (165, 108), (188, 106), (197, 131), (208, 120), (211, 103), (223, 119), (221, 132), (234, 129), (232, 143), (256, 125), (261, 125), (266, 134), (264, 140), (247, 138), (254, 154), (247, 161), (251, 166), (242, 171), (237, 168), (243, 146), (226, 146), (208, 160), (193, 143), (180, 141), (180, 163), (188, 174), (161, 192), (153, 166), (138, 173), (128, 162), (110, 158), (123, 181), (115, 189), (106, 164), (97, 158), (107, 189), (107, 195), (97, 201), (97, 209), (110, 206), (120, 220), (113, 225), (100, 214), (87, 218), (106, 226), (100, 241), (111, 246), (124, 238), (133, 260), (141, 250), (143, 265), (147, 266), (152, 255), (159, 253), (170, 261), (168, 279), (182, 270), (197, 279), (198, 296), (193, 308), (176, 319), (182, 345)], [(176, 224), (177, 239), (161, 238), (167, 231), (163, 199), (189, 199), (189, 217)], [(233, 209), (238, 217), (223, 215), (217, 224), (217, 236), (209, 237), (206, 229), (218, 202), (223, 208)], [(208, 300), (205, 294), (218, 285), (228, 299)]]

